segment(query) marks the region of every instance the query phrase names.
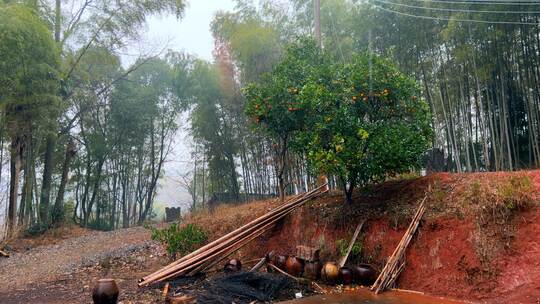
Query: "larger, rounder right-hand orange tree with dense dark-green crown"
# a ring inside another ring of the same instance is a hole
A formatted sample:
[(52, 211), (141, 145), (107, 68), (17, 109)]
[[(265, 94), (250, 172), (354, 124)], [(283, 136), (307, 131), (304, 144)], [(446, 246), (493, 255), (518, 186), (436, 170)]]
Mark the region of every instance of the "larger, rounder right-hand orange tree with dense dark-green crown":
[(419, 167), (429, 111), (416, 82), (386, 59), (356, 55), (331, 71), (332, 81), (314, 79), (299, 93), (312, 112), (298, 136), (312, 167), (337, 176), (351, 202), (355, 187)]

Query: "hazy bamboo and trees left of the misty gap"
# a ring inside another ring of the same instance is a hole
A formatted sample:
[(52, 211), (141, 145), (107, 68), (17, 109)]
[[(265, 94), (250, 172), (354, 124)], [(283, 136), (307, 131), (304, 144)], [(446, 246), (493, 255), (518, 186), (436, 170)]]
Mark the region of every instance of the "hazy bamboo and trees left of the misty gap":
[(147, 16), (180, 17), (184, 7), (183, 1), (0, 1), (8, 234), (39, 233), (71, 218), (100, 229), (127, 227), (150, 215), (177, 129), (175, 66), (183, 59), (160, 59), (152, 50), (124, 67), (120, 56), (140, 39)]

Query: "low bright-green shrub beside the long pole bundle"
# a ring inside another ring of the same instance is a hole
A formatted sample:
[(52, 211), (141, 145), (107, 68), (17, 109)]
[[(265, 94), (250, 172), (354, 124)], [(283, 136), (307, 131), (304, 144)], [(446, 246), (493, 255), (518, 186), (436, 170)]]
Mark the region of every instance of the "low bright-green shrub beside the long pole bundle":
[(175, 258), (178, 253), (185, 255), (192, 252), (208, 239), (206, 231), (193, 224), (181, 228), (177, 223), (174, 223), (168, 228), (150, 227), (150, 229), (152, 230), (152, 240), (165, 244), (167, 253), (172, 258)]

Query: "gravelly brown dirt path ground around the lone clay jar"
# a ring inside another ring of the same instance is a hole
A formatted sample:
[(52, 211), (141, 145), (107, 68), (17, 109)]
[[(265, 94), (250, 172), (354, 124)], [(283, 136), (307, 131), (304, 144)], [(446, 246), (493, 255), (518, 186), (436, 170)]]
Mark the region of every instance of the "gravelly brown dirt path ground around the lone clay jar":
[(161, 302), (159, 290), (137, 287), (139, 278), (168, 262), (142, 227), (42, 243), (14, 242), (19, 252), (0, 258), (0, 303), (92, 303), (92, 287), (101, 278), (117, 280), (120, 303)]

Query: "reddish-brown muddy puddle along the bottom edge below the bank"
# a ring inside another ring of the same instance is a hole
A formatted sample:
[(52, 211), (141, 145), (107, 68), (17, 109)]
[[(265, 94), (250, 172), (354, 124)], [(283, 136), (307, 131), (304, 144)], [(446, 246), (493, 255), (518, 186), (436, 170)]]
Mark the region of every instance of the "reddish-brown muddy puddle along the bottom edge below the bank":
[(460, 304), (456, 300), (426, 296), (421, 293), (407, 291), (387, 291), (376, 295), (367, 289), (344, 292), (340, 294), (318, 295), (298, 300), (281, 302), (281, 304)]

